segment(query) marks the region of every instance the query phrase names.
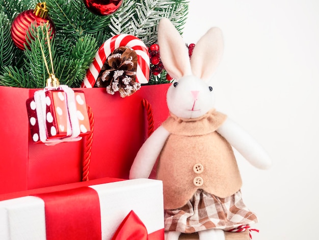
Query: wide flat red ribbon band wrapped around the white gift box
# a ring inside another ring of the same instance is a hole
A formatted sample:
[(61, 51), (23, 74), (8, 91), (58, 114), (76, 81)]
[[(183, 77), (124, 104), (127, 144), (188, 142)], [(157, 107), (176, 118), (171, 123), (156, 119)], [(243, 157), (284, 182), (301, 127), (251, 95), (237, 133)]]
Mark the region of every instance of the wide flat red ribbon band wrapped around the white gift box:
[(44, 201), (46, 240), (101, 239), (99, 197), (91, 187), (35, 196)]

